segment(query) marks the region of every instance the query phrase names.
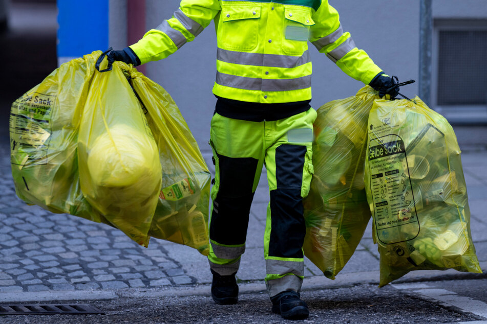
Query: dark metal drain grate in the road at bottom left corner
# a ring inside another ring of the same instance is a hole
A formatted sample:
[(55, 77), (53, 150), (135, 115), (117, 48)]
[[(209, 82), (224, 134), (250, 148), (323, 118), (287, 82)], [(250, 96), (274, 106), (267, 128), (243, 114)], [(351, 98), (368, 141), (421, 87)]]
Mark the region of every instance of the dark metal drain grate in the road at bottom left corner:
[(88, 304), (0, 305), (0, 315), (104, 314)]

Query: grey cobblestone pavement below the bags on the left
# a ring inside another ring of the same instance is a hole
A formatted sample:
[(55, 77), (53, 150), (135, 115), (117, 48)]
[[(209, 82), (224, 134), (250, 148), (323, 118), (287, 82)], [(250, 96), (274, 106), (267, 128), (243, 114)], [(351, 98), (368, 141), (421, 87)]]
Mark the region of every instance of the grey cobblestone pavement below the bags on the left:
[(28, 206), (0, 146), (0, 292), (119, 289), (196, 283), (161, 240), (143, 248), (120, 230)]

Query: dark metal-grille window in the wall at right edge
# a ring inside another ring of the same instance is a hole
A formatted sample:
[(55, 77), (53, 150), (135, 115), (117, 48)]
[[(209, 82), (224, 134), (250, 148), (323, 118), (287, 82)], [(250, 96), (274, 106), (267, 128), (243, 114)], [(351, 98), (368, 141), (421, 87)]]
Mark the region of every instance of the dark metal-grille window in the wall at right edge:
[(487, 30), (439, 31), (437, 104), (487, 104)]

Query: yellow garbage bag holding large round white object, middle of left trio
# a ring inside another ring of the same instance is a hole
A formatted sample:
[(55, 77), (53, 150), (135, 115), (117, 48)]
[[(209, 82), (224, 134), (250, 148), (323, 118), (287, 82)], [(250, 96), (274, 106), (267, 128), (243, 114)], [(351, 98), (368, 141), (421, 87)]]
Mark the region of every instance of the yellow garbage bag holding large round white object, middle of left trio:
[(161, 189), (152, 131), (119, 62), (95, 71), (78, 134), (84, 197), (115, 227), (147, 246)]

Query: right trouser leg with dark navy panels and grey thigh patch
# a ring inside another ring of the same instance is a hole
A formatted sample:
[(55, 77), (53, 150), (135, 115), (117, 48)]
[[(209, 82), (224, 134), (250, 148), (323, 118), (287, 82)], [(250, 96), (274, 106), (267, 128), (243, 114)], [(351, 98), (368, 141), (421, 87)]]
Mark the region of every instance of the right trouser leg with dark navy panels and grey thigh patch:
[(272, 132), (280, 136), (267, 148), (270, 202), (264, 254), (266, 285), (271, 297), (286, 290), (299, 292), (304, 278), (303, 197), (308, 194), (313, 172), (311, 144), (315, 118), (316, 112), (310, 109), (277, 121)]

